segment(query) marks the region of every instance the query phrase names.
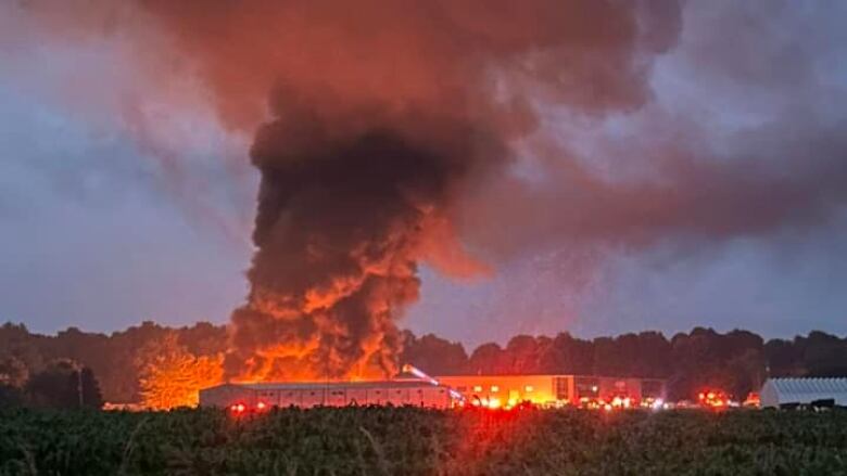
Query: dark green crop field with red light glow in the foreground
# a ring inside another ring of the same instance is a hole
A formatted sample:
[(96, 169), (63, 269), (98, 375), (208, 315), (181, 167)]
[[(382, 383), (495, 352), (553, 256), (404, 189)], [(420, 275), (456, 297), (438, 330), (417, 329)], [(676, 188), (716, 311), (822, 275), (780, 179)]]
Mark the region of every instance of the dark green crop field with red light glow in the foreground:
[(2, 475), (837, 475), (847, 412), (0, 410)]

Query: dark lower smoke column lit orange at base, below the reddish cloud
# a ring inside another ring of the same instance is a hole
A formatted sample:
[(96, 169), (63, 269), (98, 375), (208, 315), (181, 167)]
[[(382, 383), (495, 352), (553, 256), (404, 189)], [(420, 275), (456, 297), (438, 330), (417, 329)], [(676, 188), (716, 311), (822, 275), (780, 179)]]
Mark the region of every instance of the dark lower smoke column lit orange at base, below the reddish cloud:
[(456, 189), (504, 150), (450, 117), (277, 107), (252, 150), (258, 250), (249, 304), (232, 318), (230, 374), (391, 375), (394, 320), (418, 296), (417, 263), (437, 247)]

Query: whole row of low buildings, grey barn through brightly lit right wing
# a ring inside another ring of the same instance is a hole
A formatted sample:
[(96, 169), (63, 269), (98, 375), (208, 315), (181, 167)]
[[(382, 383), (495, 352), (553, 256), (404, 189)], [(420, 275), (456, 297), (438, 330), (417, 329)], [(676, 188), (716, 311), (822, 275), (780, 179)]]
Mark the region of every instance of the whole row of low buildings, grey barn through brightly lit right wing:
[(391, 381), (223, 384), (200, 391), (201, 407), (416, 406), (447, 409), (535, 407), (634, 408), (661, 404), (665, 381), (584, 375), (453, 375), (431, 377), (412, 366)]

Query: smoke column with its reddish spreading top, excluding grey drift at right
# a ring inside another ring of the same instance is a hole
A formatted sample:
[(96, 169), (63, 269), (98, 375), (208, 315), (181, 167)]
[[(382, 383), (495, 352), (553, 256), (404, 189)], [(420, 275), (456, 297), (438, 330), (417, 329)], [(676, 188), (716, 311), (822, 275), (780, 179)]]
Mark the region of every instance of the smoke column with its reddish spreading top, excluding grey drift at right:
[(265, 123), (257, 252), (227, 360), (254, 379), (392, 374), (418, 263), (484, 270), (454, 233), (456, 202), (508, 163), (536, 104), (640, 107), (681, 28), (675, 0), (115, 3), (27, 5), (51, 31), (161, 33), (226, 124)]

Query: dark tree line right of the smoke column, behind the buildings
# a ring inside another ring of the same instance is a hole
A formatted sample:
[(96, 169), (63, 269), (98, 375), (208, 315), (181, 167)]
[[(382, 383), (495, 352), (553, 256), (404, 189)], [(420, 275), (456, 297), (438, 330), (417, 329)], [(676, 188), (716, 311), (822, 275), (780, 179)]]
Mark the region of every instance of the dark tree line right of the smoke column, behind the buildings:
[(847, 337), (820, 331), (793, 339), (764, 340), (735, 330), (695, 327), (670, 339), (659, 332), (583, 339), (519, 335), (505, 346), (482, 344), (470, 355), (458, 343), (406, 333), (404, 357), (434, 375), (578, 374), (665, 378), (673, 400), (720, 388), (737, 399), (766, 378), (847, 376)]

